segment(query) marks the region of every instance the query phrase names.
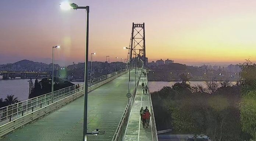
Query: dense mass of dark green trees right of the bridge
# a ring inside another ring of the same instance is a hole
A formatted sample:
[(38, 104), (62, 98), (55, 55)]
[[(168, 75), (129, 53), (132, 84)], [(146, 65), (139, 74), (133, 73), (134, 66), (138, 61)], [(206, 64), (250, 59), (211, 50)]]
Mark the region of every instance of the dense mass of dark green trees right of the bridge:
[(237, 85), (212, 81), (203, 88), (189, 85), (184, 78), (152, 93), (157, 130), (203, 134), (213, 141), (255, 140), (256, 65), (248, 61), (241, 68)]

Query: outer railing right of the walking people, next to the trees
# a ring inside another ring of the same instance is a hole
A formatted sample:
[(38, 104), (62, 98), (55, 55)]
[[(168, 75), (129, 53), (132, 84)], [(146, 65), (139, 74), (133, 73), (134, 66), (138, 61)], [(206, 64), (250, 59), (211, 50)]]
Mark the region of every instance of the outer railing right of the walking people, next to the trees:
[[(147, 76), (147, 74), (146, 74)], [(153, 141), (158, 141), (158, 137), (157, 137), (157, 129), (156, 129), (156, 121), (154, 119), (154, 110), (153, 110), (153, 105), (152, 105), (152, 100), (151, 100), (151, 94), (150, 94), (150, 89), (149, 89), (149, 81), (147, 81), (147, 87), (148, 87), (148, 91), (149, 91), (149, 105), (150, 105), (150, 113), (151, 113), (151, 124), (152, 124), (152, 139)]]

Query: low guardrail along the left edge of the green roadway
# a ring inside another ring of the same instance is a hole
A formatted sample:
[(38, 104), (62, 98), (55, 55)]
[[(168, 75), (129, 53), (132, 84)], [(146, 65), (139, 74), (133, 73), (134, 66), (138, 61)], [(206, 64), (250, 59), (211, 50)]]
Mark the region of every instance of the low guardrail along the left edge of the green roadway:
[[(93, 86), (88, 87), (88, 92), (91, 92), (92, 90), (98, 88), (99, 86), (106, 84), (107, 82), (127, 73), (128, 71), (122, 71), (121, 73), (118, 73), (117, 75), (114, 75), (113, 77), (109, 77), (102, 82), (99, 82), (98, 84), (95, 84)], [(81, 90), (82, 89), (82, 90)], [(54, 103), (51, 103), (49, 105), (45, 105), (45, 107), (41, 108), (32, 108), (29, 113), (27, 113), (24, 116), (21, 116), (17, 119), (12, 120), (11, 122), (6, 123), (5, 125), (0, 126), (0, 139), (6, 137), (8, 134), (13, 133), (14, 131), (22, 128), (25, 125), (28, 125), (29, 123), (38, 120), (39, 118), (42, 118), (43, 116), (63, 107), (64, 105), (76, 100), (77, 98), (83, 96), (84, 94), (84, 85), (81, 85), (80, 89), (72, 90), (74, 92), (73, 94), (63, 97), (62, 99), (58, 99), (54, 101)], [(47, 100), (50, 102), (50, 100)], [(48, 103), (48, 102), (46, 102)]]

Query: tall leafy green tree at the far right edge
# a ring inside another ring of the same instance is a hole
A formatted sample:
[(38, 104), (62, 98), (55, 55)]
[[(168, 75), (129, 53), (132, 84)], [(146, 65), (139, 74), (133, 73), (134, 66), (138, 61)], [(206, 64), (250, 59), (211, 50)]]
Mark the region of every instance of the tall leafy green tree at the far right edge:
[(256, 140), (256, 64), (247, 60), (241, 68), (239, 86), (242, 101), (239, 108), (242, 130)]

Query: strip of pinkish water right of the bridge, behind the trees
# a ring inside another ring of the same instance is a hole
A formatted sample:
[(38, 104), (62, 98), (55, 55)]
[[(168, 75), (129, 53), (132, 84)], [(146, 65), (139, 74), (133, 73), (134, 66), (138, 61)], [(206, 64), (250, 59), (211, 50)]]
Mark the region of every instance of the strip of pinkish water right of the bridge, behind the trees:
[[(164, 86), (173, 86), (177, 82), (164, 82), (164, 81), (149, 81), (150, 92), (156, 92), (161, 90)], [(180, 82), (181, 83), (181, 82)], [(202, 85), (206, 86), (205, 81), (190, 81), (190, 85)], [(236, 82), (232, 82), (233, 85)]]

